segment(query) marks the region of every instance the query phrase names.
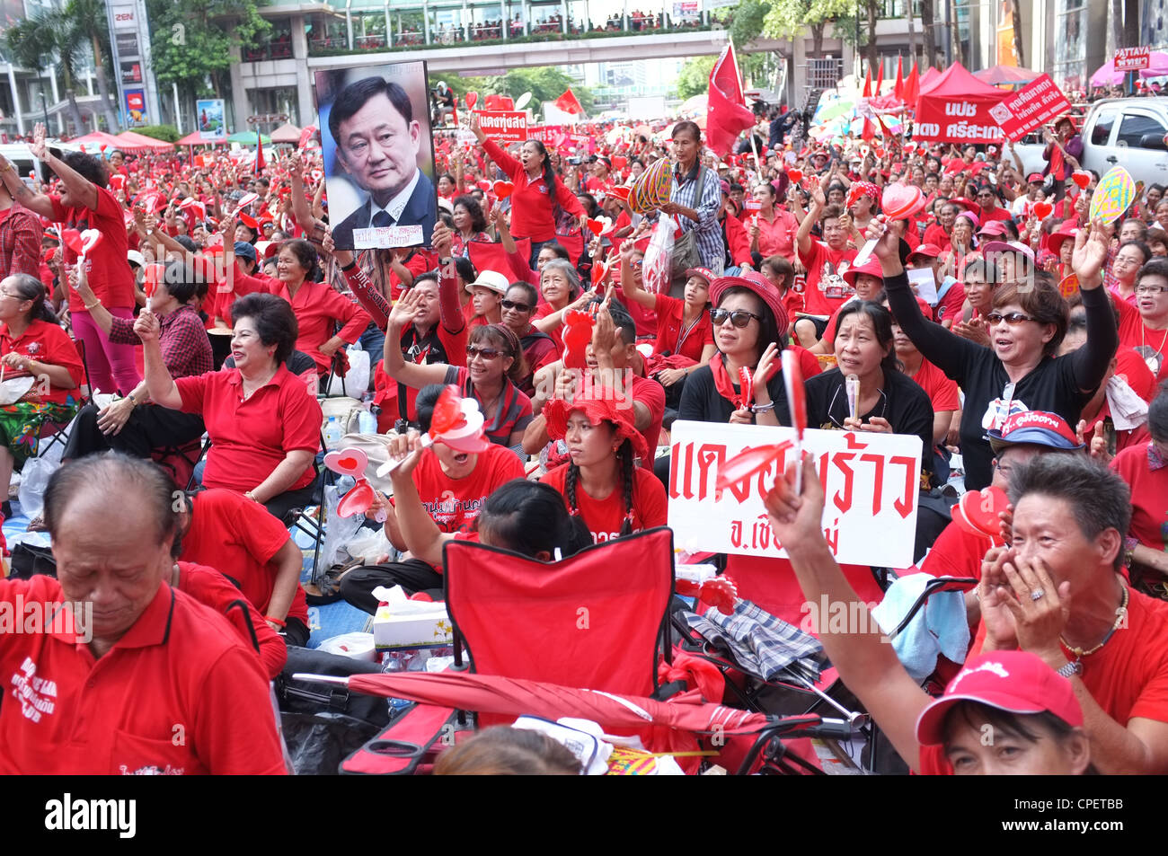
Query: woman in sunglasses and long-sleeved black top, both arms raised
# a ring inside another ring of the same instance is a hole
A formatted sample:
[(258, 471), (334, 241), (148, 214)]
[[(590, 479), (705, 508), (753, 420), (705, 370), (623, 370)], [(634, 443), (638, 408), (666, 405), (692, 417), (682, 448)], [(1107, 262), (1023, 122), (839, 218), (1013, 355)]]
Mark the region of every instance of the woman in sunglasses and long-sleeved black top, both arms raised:
[(960, 433), (967, 489), (989, 485), (993, 452), (985, 433), (1001, 429), (1011, 413), (1047, 410), (1078, 424), (1119, 345), (1107, 295), (1099, 287), (1107, 257), (1107, 231), (1101, 223), (1092, 223), (1090, 237), (1084, 229), (1075, 238), (1073, 266), (1086, 309), (1087, 341), (1066, 356), (1056, 356), (1066, 334), (1066, 301), (1044, 274), (997, 290), (986, 315), (989, 348), (983, 348), (925, 321), (901, 265), (896, 236), (872, 229), (868, 237), (880, 239), (876, 255), (889, 307), (901, 328), (926, 360), (965, 391)]

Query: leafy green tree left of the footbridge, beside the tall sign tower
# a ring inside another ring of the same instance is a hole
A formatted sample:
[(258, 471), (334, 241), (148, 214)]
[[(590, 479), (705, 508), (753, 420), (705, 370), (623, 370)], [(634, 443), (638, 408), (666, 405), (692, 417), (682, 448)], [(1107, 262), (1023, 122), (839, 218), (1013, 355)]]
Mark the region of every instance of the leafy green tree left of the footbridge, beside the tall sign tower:
[(255, 47), (271, 25), (255, 0), (147, 0), (154, 75), (187, 95), (223, 97), (232, 50)]

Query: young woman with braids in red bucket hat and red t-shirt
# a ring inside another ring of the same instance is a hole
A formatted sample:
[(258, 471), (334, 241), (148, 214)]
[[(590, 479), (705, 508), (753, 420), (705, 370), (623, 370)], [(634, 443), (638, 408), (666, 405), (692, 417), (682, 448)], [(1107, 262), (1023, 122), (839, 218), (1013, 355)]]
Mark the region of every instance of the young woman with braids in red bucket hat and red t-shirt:
[(543, 409), (548, 436), (568, 444), (571, 460), (541, 481), (563, 495), (596, 543), (666, 524), (665, 487), (638, 466), (648, 448), (623, 404), (611, 389), (592, 385), (572, 402), (556, 398)]

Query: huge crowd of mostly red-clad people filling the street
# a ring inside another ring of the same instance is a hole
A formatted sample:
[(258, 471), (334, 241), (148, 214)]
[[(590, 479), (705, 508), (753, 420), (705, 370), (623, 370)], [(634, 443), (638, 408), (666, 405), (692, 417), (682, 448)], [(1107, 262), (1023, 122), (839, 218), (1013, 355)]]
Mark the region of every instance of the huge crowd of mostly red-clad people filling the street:
[[(264, 676), (310, 642), (287, 527), (315, 502), (320, 398), (355, 342), (374, 366), (347, 391), (377, 437), (354, 441), (399, 461), (366, 513), (392, 552), (339, 582), (355, 607), (375, 612), (377, 586), (439, 599), (451, 540), (556, 562), (666, 526), (674, 420), (792, 425), (791, 350), (809, 427), (922, 441), (916, 564), (894, 570), (974, 580), (972, 641), (941, 668), (939, 701), (878, 633), (816, 628), (904, 761), (1168, 770), (1164, 188), (1090, 221), (1099, 176), (1071, 181), (1069, 120), (1030, 174), (1008, 144), (848, 137), (718, 155), (696, 124), (665, 128), (508, 146), (472, 121), (474, 144), (436, 140), (431, 246), (391, 250), (336, 246), (315, 148), (257, 173), (223, 153), (62, 151), (39, 127), (48, 183), (0, 158), (0, 496), (72, 420), (32, 524), (53, 538), (56, 579), (2, 582), (0, 601), (92, 611), (89, 646), (0, 638), (6, 680), (56, 682), (51, 716), (32, 689), (0, 704), (20, 747), (2, 771), (284, 770)], [(668, 201), (634, 210), (631, 182), (661, 160)], [(894, 185), (924, 207), (887, 218)], [(662, 285), (649, 243), (674, 227), (691, 264)], [(486, 448), (422, 440), (449, 387), (477, 403)], [(175, 503), (154, 461), (204, 438), (200, 487), (179, 485)], [(788, 558), (729, 556), (721, 572), (798, 625), (800, 603), (883, 592), (872, 569), (836, 564), (820, 479), (799, 462), (797, 493), (795, 466), (766, 499)], [(987, 552), (952, 506), (990, 486), (1010, 506)], [(112, 661), (96, 690), (95, 660)], [(127, 707), (146, 662), (173, 696)], [(121, 710), (118, 731), (78, 724), (95, 704)], [(979, 743), (987, 721), (1015, 752)], [(174, 722), (199, 723), (196, 739), (165, 747)]]

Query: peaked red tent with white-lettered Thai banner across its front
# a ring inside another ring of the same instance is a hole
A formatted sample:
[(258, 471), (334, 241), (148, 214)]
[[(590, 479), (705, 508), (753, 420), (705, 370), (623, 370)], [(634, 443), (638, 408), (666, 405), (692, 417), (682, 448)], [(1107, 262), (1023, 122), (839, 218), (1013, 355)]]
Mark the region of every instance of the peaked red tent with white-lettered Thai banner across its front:
[(1006, 137), (989, 111), (1007, 95), (954, 63), (929, 83), (922, 81), (912, 137), (939, 142), (1001, 142)]

